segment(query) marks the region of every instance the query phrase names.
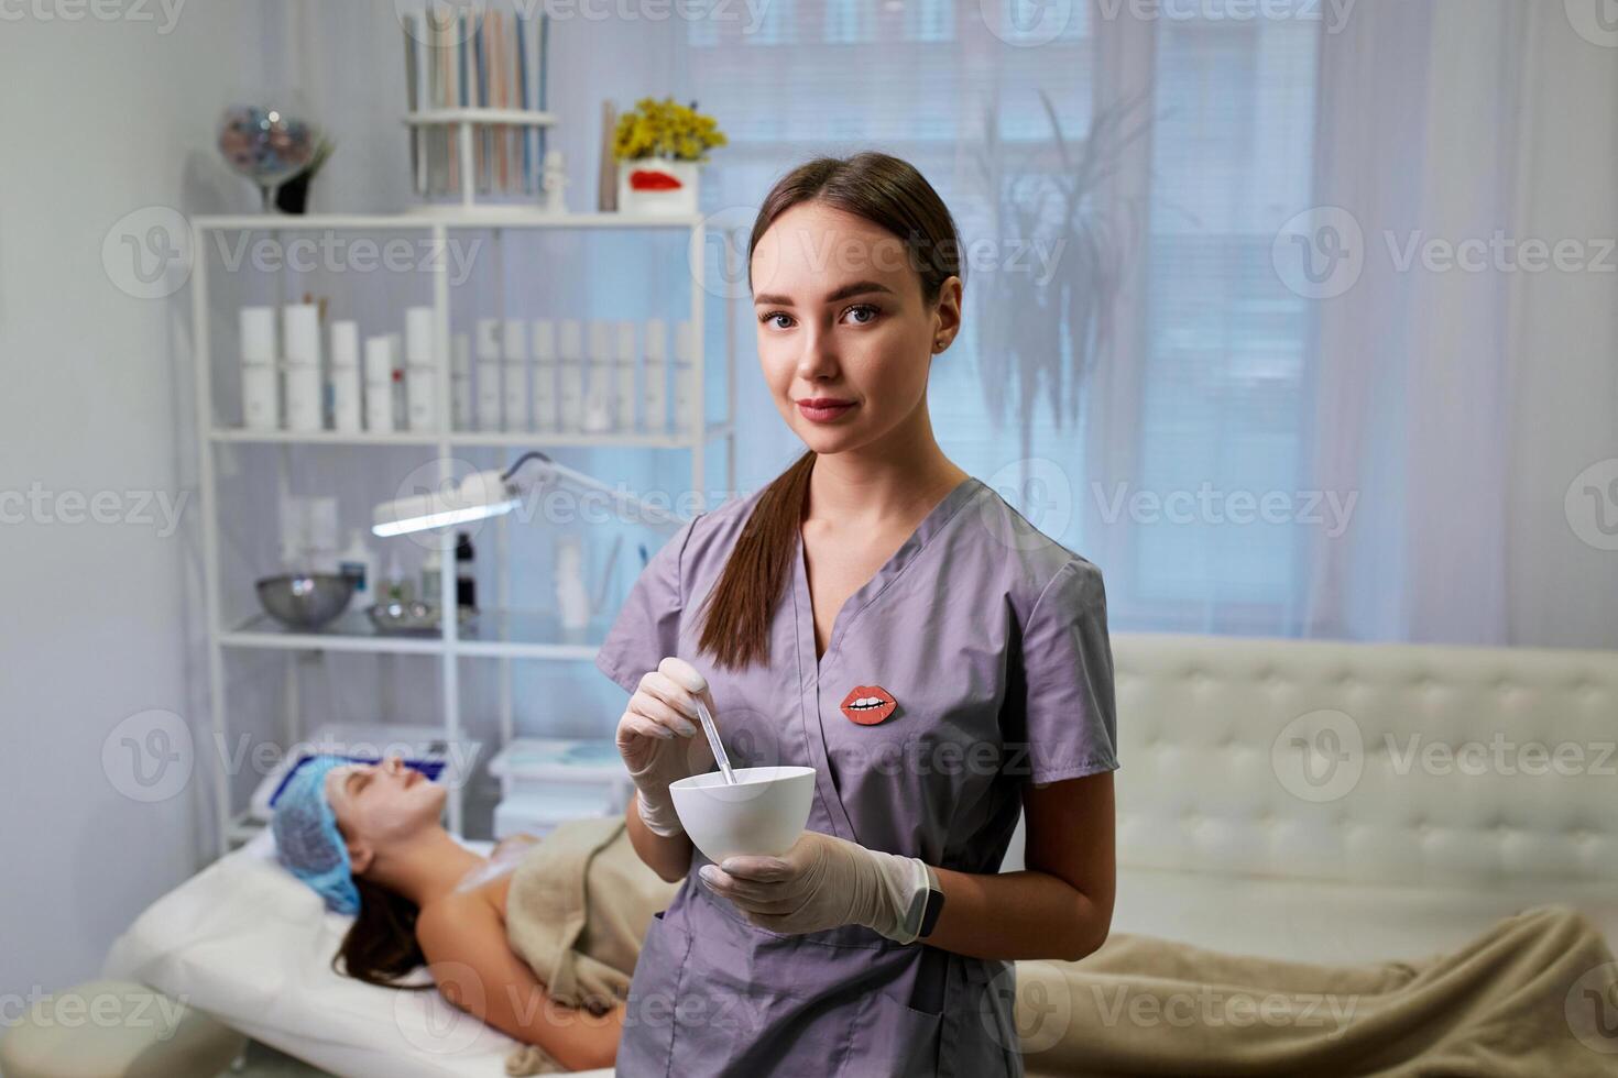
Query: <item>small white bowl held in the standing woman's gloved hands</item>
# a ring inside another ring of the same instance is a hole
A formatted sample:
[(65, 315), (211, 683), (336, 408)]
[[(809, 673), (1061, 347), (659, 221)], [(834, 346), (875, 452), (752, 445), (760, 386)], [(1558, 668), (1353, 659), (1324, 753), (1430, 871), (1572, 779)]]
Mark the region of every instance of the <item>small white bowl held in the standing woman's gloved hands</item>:
[(736, 768), (736, 784), (720, 771), (668, 784), (680, 824), (715, 865), (735, 853), (778, 857), (809, 823), (814, 768)]

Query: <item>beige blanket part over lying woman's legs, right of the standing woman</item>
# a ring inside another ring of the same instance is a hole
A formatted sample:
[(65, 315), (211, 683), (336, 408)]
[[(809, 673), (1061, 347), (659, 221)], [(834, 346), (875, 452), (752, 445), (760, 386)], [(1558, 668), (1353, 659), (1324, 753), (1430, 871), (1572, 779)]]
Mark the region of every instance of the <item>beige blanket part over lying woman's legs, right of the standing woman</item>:
[(1115, 933), (1081, 962), (1016, 965), (1029, 1078), (1618, 1075), (1618, 966), (1568, 907), (1414, 962), (1275, 962)]

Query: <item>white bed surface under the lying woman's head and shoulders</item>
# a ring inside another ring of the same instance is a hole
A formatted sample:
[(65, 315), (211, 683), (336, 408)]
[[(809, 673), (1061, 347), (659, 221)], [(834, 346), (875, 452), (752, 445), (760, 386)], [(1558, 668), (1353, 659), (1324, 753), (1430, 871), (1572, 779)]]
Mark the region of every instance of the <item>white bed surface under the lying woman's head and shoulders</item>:
[(435, 989), (377, 987), (333, 971), (348, 923), (275, 861), (265, 831), (141, 913), (113, 942), (104, 973), (337, 1075), (505, 1075), (516, 1042)]

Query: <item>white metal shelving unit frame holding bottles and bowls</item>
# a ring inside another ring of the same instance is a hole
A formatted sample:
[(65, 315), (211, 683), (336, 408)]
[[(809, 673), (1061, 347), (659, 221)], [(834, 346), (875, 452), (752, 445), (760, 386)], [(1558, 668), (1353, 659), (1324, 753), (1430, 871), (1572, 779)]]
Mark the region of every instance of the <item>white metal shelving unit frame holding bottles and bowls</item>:
[[(442, 357), (437, 370), (435, 398), (438, 402), (440, 430), (437, 432), (398, 432), (398, 433), (338, 433), (311, 432), (293, 433), (283, 430), (244, 430), (222, 427), (215, 417), (212, 373), (218, 357), (210, 347), (209, 326), (209, 265), (205, 239), (210, 233), (251, 231), (282, 233), (303, 231), (401, 231), (427, 233), (430, 249), (443, 255), (450, 233), (455, 229), (492, 231), (495, 242), (505, 229), (659, 229), (684, 231), (688, 236), (688, 252), (705, 251), (705, 220), (701, 217), (634, 217), (623, 213), (568, 213), (537, 215), (529, 208), (502, 215), (481, 208), (474, 215), (460, 215), (453, 208), (416, 210), (393, 215), (307, 215), (307, 217), (265, 217), (265, 215), (212, 215), (193, 217), (193, 251), (197, 252), (191, 275), (191, 338), (196, 356), (196, 422), (201, 436), (199, 483), (202, 498), (202, 554), (204, 554), (204, 601), (207, 606), (207, 661), (209, 661), (209, 703), (212, 711), (212, 732), (217, 745), (227, 745), (230, 737), (230, 687), (225, 677), (225, 653), (235, 648), (256, 648), (265, 651), (282, 651), (286, 655), (286, 693), (283, 724), (290, 740), (303, 737), (303, 716), (298, 703), (298, 661), (303, 656), (322, 656), (325, 653), (377, 653), (377, 655), (430, 655), (440, 663), (440, 711), (447, 739), (461, 735), (461, 692), (458, 659), (487, 658), (502, 663), (500, 669), (500, 747), (513, 737), (511, 716), (511, 671), (513, 659), (529, 661), (565, 661), (579, 663), (595, 658), (599, 640), (591, 632), (563, 632), (555, 619), (545, 613), (510, 611), (505, 608), (508, 595), (510, 572), (506, 569), (506, 535), (505, 519), (497, 524), (497, 566), (500, 608), (484, 609), (469, 627), (456, 624), (455, 617), (440, 619), (437, 637), (406, 637), (377, 634), (362, 611), (349, 611), (333, 624), (317, 632), (293, 632), (259, 614), (241, 624), (225, 624), (223, 603), (220, 593), (220, 527), (218, 527), (218, 469), (215, 454), (222, 446), (231, 444), (282, 444), (282, 446), (421, 446), (434, 449), (438, 459), (440, 482), (451, 482), (451, 459), (456, 449), (463, 448), (495, 448), (508, 451), (574, 448), (574, 446), (613, 446), (644, 449), (675, 449), (691, 454), (693, 490), (704, 488), (707, 449), (718, 440), (725, 441), (726, 454), (726, 490), (736, 485), (736, 343), (735, 318), (731, 317), (735, 299), (723, 301), (725, 318), (725, 415), (722, 422), (712, 422), (705, 412), (707, 386), (707, 347), (704, 339), (704, 259), (688, 257), (691, 273), (691, 328), (693, 359), (696, 367), (697, 391), (693, 394), (691, 414), (684, 417), (683, 430), (694, 433), (578, 433), (578, 432), (466, 432), (451, 430), (448, 402), (450, 386), (450, 278), (448, 259), (434, 259), (432, 270), (432, 305), (435, 310), (437, 354)], [(726, 280), (733, 280), (731, 252), (733, 242), (722, 244), (726, 260)], [(231, 357), (235, 359), (235, 357)], [(680, 427), (676, 423), (676, 427)], [(286, 482), (286, 456), (280, 457), (280, 478)], [(379, 491), (379, 501), (382, 501)], [(453, 533), (443, 537), (445, 566), (453, 564)], [(440, 609), (455, 609), (455, 574), (442, 575)], [(599, 632), (599, 629), (597, 629)], [(233, 805), (231, 776), (227, 773), (223, 753), (210, 753), (215, 766), (215, 810), (220, 836), (220, 853), (246, 842), (259, 832), (262, 824), (251, 818), (246, 806), (239, 811)], [(463, 829), (464, 805), (460, 787), (450, 790), (448, 826), (451, 831)]]

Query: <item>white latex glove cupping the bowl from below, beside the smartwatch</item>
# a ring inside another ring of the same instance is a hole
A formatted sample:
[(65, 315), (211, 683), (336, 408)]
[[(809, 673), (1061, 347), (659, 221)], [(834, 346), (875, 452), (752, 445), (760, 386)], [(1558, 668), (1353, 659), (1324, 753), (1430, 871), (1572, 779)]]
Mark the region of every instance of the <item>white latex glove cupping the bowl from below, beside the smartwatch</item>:
[(773, 933), (817, 933), (864, 924), (901, 944), (916, 941), (904, 920), (927, 889), (919, 857), (870, 850), (804, 831), (781, 857), (736, 855), (704, 865), (704, 886), (730, 899), (749, 921)]

